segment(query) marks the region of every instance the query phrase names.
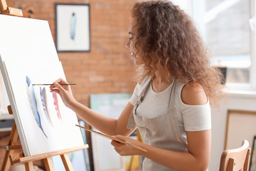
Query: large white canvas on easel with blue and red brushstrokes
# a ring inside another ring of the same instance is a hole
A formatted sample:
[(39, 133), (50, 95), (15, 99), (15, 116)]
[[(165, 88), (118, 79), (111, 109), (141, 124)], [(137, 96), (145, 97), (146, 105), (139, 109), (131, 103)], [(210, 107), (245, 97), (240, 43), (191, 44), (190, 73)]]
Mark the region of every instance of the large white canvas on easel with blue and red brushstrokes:
[(24, 155), (83, 145), (75, 113), (49, 86), (32, 86), (65, 79), (48, 22), (2, 15), (0, 22), (0, 67)]

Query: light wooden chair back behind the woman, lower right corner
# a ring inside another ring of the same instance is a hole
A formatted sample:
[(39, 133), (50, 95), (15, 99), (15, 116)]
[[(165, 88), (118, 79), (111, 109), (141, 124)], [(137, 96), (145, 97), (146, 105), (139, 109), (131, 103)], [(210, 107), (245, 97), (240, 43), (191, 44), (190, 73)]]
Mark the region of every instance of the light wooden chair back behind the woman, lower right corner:
[(220, 159), (220, 171), (247, 171), (250, 166), (250, 147), (247, 140), (239, 148), (225, 150)]

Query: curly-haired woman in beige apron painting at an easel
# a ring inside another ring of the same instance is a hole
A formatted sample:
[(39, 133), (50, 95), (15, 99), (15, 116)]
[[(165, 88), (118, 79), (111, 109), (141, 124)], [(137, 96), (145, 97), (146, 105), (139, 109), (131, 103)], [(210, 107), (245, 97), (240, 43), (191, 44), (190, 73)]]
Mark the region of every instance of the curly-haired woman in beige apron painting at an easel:
[[(78, 103), (61, 78), (50, 90), (97, 130), (147, 150), (112, 141), (120, 155), (144, 156), (144, 171), (207, 170), (210, 105), (221, 97), (220, 73), (191, 19), (170, 1), (138, 2), (125, 46), (142, 74), (118, 119)], [(144, 143), (128, 138), (137, 128)]]

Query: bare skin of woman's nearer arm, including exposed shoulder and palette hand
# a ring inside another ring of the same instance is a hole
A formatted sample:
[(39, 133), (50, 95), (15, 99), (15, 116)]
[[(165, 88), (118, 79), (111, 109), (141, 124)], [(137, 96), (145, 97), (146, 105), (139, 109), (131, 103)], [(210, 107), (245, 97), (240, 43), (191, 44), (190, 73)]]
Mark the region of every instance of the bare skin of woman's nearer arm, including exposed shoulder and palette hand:
[[(206, 93), (200, 85), (189, 83), (181, 91), (183, 103), (188, 105), (203, 105), (207, 103)], [(134, 145), (144, 148), (147, 152), (137, 150), (129, 145), (123, 145), (112, 141), (115, 150), (120, 155), (143, 155), (161, 165), (175, 170), (207, 170), (210, 161), (211, 130), (186, 131), (188, 152), (174, 152), (163, 150), (143, 144), (121, 135), (116, 138), (122, 139)]]

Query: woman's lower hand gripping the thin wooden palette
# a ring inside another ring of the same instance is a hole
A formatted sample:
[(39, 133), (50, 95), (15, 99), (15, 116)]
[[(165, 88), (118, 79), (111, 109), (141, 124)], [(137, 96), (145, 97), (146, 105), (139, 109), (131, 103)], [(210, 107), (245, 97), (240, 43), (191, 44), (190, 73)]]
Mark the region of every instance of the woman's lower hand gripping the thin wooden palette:
[[(139, 142), (138, 140), (134, 140), (132, 138), (128, 138), (126, 136), (123, 135), (116, 135), (116, 136), (112, 136), (113, 138), (117, 138), (119, 140), (123, 140), (125, 142), (128, 142), (129, 144), (132, 145), (137, 145), (138, 147), (142, 147), (143, 148), (143, 143)], [(127, 144), (123, 144), (121, 142), (117, 142), (115, 140), (112, 140), (111, 145), (114, 146), (114, 150), (116, 150), (119, 155), (122, 156), (127, 156), (127, 155), (143, 155), (143, 151), (137, 149), (136, 147), (132, 147), (132, 145), (127, 145)]]

